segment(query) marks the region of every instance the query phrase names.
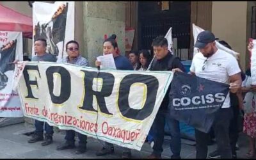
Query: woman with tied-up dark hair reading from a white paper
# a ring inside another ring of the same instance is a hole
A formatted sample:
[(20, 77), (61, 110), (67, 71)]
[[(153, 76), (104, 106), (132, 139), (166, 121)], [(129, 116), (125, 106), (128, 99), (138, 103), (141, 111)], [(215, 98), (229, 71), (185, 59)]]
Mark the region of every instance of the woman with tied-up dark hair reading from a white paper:
[[(116, 43), (116, 35), (110, 36), (103, 42), (103, 54), (113, 54), (116, 69), (118, 70), (133, 70), (131, 62), (125, 57), (120, 55), (118, 45)], [(100, 66), (100, 61), (95, 61), (96, 67)], [(105, 156), (106, 154), (113, 154), (114, 146), (112, 143), (104, 142), (103, 148), (96, 153), (96, 156)], [(131, 158), (131, 149), (123, 148), (122, 158)]]

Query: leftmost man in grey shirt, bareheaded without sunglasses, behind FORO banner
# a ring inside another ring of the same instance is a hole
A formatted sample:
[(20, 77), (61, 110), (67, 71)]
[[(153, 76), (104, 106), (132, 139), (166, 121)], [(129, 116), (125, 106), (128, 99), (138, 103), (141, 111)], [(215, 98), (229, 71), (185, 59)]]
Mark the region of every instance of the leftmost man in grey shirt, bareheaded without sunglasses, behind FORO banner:
[[(32, 61), (54, 61), (56, 62), (56, 57), (52, 54), (46, 53), (47, 43), (45, 39), (38, 38), (35, 40), (35, 52), (36, 56), (33, 56)], [(28, 141), (28, 143), (35, 143), (36, 141), (44, 140), (44, 129), (45, 129), (45, 140), (42, 145), (50, 145), (52, 143), (52, 134), (53, 127), (46, 122), (41, 122), (39, 120), (35, 120), (35, 134), (33, 134), (32, 138)]]

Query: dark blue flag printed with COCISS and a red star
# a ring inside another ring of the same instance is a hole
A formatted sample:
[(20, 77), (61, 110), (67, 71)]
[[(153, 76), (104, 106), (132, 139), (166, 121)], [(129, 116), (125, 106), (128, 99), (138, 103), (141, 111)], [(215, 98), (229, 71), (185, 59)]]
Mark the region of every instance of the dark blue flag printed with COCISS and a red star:
[(228, 84), (175, 72), (169, 93), (170, 115), (199, 131), (209, 132), (228, 92)]

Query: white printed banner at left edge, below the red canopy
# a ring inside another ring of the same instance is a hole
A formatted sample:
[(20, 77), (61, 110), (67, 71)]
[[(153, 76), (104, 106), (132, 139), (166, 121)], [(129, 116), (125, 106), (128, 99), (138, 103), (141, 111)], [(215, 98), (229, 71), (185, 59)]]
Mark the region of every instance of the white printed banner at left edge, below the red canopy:
[(22, 117), (19, 95), (12, 92), (14, 60), (23, 60), (22, 32), (0, 31), (0, 117)]

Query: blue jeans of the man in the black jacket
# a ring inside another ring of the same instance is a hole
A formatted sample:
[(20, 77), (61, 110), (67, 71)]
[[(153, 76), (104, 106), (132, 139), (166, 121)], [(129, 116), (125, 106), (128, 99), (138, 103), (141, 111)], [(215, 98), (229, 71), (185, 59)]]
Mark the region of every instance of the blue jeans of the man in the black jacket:
[(156, 156), (161, 156), (163, 152), (163, 142), (164, 142), (164, 124), (165, 121), (168, 120), (168, 125), (170, 125), (170, 148), (172, 150), (173, 156), (180, 156), (181, 150), (181, 140), (180, 140), (180, 127), (179, 121), (170, 117), (169, 111), (161, 111), (157, 112), (156, 118), (152, 125), (152, 131), (154, 135), (154, 146), (153, 146), (153, 154)]

